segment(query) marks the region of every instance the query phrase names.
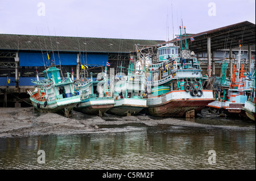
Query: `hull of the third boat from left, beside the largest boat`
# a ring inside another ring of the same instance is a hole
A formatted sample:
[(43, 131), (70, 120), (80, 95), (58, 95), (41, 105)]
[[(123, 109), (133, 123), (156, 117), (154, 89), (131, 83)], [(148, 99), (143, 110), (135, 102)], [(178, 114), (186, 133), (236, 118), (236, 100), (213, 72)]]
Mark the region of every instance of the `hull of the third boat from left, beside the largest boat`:
[(115, 105), (107, 113), (118, 116), (137, 115), (147, 107), (147, 101), (144, 99), (124, 98), (115, 100)]

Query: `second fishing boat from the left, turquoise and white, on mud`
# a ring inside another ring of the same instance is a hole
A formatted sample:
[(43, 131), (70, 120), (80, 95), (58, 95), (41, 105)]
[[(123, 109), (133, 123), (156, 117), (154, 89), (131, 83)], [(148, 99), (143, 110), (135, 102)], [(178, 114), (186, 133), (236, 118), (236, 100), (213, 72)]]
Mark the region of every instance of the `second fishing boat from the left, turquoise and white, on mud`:
[(90, 72), (90, 79), (84, 77), (76, 81), (75, 89), (81, 98), (81, 104), (75, 108), (76, 111), (102, 117), (106, 111), (114, 106), (106, 69), (97, 74), (95, 81), (93, 81), (92, 72)]

